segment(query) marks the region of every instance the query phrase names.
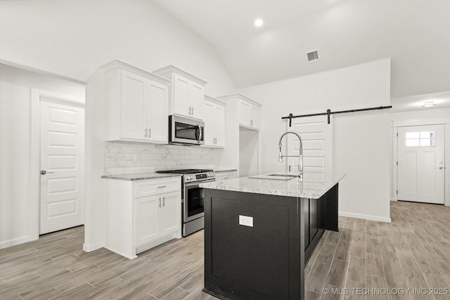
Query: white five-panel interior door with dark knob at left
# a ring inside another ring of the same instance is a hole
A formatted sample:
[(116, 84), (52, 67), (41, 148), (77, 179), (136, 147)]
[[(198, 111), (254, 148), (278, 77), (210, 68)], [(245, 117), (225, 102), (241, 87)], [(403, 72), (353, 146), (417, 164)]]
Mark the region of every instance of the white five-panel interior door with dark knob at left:
[(84, 223), (84, 108), (40, 101), (39, 234)]

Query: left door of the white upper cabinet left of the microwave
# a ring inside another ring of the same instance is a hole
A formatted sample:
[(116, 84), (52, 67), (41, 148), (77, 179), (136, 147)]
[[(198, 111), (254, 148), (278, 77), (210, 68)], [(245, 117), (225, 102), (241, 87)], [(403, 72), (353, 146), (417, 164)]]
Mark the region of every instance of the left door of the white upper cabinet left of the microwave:
[(145, 139), (148, 79), (122, 71), (120, 137)]

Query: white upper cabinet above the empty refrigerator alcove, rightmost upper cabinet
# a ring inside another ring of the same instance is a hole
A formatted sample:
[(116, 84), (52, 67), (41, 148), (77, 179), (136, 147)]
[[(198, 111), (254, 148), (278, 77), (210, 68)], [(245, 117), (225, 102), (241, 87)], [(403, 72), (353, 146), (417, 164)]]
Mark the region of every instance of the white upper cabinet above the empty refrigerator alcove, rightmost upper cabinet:
[(259, 115), (261, 112), (261, 104), (240, 93), (229, 96), (222, 96), (218, 99), (226, 100), (226, 103), (231, 102), (233, 103), (233, 106), (237, 106), (239, 126), (243, 126), (248, 129), (259, 130)]

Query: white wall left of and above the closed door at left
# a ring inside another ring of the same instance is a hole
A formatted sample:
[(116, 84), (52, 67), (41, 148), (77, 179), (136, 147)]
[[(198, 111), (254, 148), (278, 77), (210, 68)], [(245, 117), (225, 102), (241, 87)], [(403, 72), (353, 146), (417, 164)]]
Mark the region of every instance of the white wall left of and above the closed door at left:
[[(0, 64), (0, 248), (36, 239), (30, 206), (30, 89), (84, 100), (84, 86)], [(38, 211), (36, 211), (38, 213)]]

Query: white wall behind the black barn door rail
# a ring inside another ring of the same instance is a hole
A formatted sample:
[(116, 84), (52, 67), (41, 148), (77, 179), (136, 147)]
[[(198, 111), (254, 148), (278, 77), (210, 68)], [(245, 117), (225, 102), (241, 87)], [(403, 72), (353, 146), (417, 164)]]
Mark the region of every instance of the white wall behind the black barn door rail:
[[(278, 138), (281, 117), (390, 105), (390, 59), (240, 90), (262, 103), (260, 173), (283, 171)], [(340, 214), (390, 221), (390, 119), (387, 111), (335, 115), (333, 169), (340, 183)]]

